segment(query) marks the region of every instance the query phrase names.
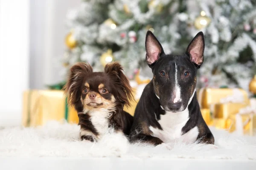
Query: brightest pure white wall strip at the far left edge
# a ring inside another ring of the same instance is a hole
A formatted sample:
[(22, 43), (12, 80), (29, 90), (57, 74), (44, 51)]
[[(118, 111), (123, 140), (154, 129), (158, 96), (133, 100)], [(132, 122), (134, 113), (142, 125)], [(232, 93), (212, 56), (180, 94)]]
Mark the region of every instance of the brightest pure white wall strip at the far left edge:
[(28, 70), (29, 0), (0, 0), (0, 125), (20, 123)]

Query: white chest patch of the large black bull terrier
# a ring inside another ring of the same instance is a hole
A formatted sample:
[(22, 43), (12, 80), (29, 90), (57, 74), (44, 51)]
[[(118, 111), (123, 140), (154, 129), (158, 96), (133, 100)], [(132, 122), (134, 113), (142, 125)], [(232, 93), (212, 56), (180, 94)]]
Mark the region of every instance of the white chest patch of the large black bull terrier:
[(161, 125), (163, 130), (154, 128), (152, 126), (149, 129), (152, 131), (152, 136), (161, 139), (163, 142), (174, 142), (174, 140), (181, 140), (186, 143), (193, 143), (198, 137), (198, 127), (195, 126), (187, 133), (182, 135), (182, 128), (186, 125), (189, 120), (188, 108), (182, 112), (168, 112), (165, 115), (161, 115), (158, 123)]

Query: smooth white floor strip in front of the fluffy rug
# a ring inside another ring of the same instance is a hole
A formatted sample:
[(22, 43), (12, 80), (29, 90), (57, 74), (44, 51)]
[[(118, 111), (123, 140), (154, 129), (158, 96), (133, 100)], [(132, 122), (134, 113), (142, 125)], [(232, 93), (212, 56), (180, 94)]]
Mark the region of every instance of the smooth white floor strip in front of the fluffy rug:
[(252, 160), (167, 158), (4, 158), (1, 170), (255, 170)]

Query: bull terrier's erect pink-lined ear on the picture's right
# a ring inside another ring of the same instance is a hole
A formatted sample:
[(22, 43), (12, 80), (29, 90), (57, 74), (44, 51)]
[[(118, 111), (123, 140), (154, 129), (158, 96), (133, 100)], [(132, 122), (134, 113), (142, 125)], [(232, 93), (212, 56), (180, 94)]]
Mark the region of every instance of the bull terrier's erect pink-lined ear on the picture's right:
[(204, 62), (204, 33), (198, 32), (186, 49), (186, 54), (190, 60), (200, 66)]

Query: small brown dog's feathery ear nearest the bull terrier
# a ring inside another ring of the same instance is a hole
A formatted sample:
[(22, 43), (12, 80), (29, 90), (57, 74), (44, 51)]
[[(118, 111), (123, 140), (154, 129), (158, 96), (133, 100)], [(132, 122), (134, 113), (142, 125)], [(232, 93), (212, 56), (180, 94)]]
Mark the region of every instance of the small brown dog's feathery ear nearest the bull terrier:
[(128, 78), (123, 73), (123, 68), (118, 62), (111, 62), (106, 64), (105, 73), (115, 77), (115, 85), (118, 91), (118, 100), (123, 105), (130, 106), (130, 101), (134, 100), (133, 90), (131, 88)]

